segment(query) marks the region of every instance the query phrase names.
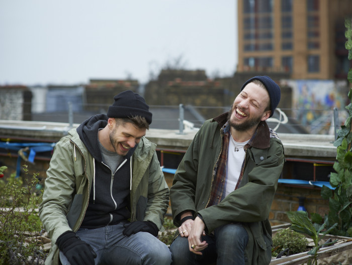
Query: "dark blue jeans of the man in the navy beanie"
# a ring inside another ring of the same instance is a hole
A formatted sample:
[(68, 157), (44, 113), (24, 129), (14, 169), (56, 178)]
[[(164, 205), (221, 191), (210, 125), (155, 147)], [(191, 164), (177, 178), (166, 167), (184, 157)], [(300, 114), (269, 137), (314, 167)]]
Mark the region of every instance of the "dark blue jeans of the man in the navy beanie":
[(217, 265), (236, 264), (245, 262), (244, 249), (248, 243), (248, 234), (241, 224), (227, 224), (214, 230), (214, 235), (202, 236), (208, 246), (202, 250), (203, 255), (190, 251), (188, 238), (178, 236), (171, 244), (172, 265)]

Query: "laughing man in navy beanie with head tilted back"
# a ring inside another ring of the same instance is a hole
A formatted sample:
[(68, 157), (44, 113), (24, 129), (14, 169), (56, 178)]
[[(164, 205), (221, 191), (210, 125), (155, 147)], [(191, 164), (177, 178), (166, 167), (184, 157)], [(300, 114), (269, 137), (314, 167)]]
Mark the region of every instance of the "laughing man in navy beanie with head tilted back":
[(270, 263), (269, 213), (285, 158), (266, 120), (280, 97), (270, 77), (254, 76), (229, 112), (197, 132), (170, 188), (171, 264)]

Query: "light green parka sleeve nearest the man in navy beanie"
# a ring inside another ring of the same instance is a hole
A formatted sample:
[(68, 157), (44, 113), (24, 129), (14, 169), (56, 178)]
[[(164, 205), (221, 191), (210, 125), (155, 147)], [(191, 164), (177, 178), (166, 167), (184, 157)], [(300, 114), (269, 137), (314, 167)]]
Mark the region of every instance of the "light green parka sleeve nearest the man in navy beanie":
[(169, 189), (154, 151), (149, 165), (148, 202), (144, 220), (152, 221), (161, 230), (168, 203)]

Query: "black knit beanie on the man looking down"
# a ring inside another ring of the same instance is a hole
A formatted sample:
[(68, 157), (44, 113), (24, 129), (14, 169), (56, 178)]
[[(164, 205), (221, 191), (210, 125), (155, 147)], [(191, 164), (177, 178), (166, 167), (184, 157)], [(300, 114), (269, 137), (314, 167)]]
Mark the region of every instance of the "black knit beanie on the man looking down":
[(126, 90), (114, 96), (115, 102), (108, 109), (109, 118), (127, 118), (132, 116), (145, 117), (151, 123), (152, 113), (143, 97), (131, 90)]

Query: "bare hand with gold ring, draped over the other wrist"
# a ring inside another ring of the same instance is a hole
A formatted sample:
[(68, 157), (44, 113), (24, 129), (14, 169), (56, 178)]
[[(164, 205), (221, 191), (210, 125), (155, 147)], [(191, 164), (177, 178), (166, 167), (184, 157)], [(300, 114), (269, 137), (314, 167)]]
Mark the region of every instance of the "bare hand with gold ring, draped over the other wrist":
[(208, 246), (207, 241), (201, 241), (201, 236), (205, 235), (204, 228), (205, 224), (202, 219), (196, 217), (193, 222), (190, 235), (188, 236), (188, 244), (190, 251), (197, 255), (202, 255), (201, 250), (205, 249)]

